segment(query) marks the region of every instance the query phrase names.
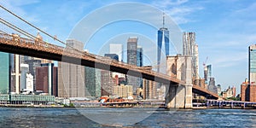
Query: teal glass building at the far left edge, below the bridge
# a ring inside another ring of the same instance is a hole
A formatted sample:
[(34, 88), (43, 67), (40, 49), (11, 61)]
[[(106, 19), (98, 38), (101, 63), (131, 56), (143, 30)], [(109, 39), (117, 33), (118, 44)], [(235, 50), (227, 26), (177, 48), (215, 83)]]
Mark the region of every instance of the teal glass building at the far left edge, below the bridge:
[(10, 79), (9, 53), (0, 52), (0, 94), (8, 94)]

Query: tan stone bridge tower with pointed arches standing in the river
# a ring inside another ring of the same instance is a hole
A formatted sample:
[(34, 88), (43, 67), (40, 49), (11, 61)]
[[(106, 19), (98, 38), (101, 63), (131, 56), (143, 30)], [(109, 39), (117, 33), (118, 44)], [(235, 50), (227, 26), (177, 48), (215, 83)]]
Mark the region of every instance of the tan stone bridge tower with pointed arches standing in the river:
[(192, 108), (192, 56), (167, 56), (167, 75), (181, 79), (183, 84), (170, 84), (166, 89), (167, 108)]

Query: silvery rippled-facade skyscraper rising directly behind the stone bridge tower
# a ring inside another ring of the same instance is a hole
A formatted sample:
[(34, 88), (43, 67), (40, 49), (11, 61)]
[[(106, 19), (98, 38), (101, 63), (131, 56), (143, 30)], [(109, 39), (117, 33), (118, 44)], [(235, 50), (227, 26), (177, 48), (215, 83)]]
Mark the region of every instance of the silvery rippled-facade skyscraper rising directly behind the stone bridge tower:
[(192, 77), (199, 79), (198, 45), (195, 44), (195, 32), (183, 32), (183, 55), (192, 56)]

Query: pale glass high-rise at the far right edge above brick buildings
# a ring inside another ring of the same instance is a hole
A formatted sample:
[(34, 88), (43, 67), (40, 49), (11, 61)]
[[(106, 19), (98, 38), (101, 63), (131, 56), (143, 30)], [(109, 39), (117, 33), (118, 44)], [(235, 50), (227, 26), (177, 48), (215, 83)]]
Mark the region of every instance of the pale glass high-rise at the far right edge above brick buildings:
[(249, 46), (249, 83), (256, 82), (256, 44)]

